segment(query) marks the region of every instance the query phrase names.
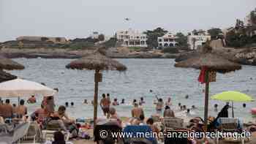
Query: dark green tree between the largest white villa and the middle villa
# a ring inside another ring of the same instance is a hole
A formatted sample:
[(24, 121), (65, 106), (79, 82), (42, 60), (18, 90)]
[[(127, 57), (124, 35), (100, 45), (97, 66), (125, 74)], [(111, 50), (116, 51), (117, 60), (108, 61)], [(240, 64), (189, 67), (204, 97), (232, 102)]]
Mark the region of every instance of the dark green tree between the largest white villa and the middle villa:
[(145, 31), (144, 34), (146, 34), (148, 38), (146, 41), (146, 43), (148, 44), (148, 47), (151, 47), (151, 48), (158, 47), (157, 37), (162, 37), (166, 33), (167, 31), (160, 27), (157, 29), (154, 29), (153, 31), (151, 30)]

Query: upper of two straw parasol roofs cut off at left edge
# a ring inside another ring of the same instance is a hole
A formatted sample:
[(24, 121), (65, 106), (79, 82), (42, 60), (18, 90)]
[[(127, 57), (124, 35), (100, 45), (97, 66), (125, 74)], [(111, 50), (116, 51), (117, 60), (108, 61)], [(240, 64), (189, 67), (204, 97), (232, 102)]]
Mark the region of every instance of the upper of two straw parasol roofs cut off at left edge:
[(24, 69), (25, 67), (18, 64), (16, 61), (12, 61), (10, 58), (0, 56), (0, 69), (13, 70), (13, 69)]

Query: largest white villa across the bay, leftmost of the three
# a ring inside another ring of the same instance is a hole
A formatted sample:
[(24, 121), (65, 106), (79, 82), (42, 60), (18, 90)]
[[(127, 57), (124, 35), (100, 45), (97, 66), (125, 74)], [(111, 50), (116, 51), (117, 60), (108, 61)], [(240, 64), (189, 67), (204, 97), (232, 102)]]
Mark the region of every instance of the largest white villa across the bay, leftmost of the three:
[(118, 42), (122, 42), (123, 47), (148, 47), (146, 44), (146, 34), (142, 34), (139, 31), (133, 31), (128, 29), (128, 31), (117, 31), (116, 39)]

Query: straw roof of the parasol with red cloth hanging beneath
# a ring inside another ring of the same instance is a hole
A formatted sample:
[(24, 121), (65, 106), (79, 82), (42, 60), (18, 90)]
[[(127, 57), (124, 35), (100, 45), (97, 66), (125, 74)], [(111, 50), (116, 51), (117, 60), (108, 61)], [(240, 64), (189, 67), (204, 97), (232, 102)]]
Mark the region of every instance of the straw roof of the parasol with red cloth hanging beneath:
[(188, 58), (175, 64), (175, 67), (195, 68), (207, 67), (208, 69), (226, 73), (241, 69), (240, 64), (233, 63), (222, 56), (217, 56), (214, 53), (200, 53), (198, 56)]

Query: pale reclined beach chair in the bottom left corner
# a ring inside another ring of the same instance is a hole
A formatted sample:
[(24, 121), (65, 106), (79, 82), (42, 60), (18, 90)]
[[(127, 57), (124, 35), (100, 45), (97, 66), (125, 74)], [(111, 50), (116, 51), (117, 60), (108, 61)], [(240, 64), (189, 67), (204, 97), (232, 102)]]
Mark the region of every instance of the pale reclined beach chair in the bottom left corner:
[(20, 143), (20, 140), (26, 135), (29, 129), (29, 123), (23, 123), (15, 127), (12, 132), (0, 135), (0, 143), (12, 144)]

